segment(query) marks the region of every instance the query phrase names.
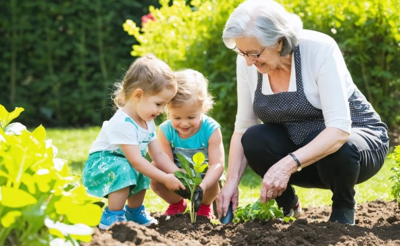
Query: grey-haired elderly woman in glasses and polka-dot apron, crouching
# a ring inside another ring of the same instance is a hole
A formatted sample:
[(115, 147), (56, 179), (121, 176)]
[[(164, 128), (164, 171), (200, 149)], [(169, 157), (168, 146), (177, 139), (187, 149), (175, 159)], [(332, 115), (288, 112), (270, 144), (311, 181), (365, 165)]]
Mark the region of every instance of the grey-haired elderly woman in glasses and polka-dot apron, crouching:
[(222, 38), (238, 54), (238, 112), (218, 213), (236, 210), (248, 164), (284, 215), (300, 215), (295, 184), (330, 189), (329, 220), (355, 224), (354, 186), (379, 171), (389, 139), (336, 42), (272, 0), (241, 3)]

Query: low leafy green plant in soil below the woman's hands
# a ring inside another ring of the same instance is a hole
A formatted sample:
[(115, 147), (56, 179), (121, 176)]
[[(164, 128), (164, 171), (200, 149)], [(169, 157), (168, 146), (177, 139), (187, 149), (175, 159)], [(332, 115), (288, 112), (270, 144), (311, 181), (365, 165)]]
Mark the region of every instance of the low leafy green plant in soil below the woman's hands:
[(294, 217), (283, 216), (283, 211), (275, 205), (275, 200), (269, 200), (261, 203), (258, 199), (254, 204), (247, 204), (245, 207), (238, 207), (233, 222), (247, 222), (249, 220), (259, 219), (267, 221), (272, 218), (280, 218), (285, 222), (295, 220)]

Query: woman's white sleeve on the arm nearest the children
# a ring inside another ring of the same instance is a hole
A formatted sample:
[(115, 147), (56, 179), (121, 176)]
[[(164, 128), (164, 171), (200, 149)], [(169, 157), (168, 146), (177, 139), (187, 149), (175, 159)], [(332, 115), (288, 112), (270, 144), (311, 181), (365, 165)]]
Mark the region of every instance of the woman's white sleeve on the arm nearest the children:
[(236, 114), (235, 132), (244, 133), (248, 127), (258, 123), (258, 118), (253, 111), (253, 101), (251, 99), (250, 85), (244, 68), (245, 60), (236, 60), (236, 76), (238, 85), (238, 112)]

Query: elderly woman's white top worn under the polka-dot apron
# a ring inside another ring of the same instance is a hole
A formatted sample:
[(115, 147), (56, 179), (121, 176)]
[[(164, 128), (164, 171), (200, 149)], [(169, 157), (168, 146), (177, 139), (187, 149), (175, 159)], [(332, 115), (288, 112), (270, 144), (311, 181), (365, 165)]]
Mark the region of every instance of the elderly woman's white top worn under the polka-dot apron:
[[(308, 101), (322, 110), (326, 127), (337, 127), (350, 133), (351, 118), (348, 99), (356, 85), (346, 67), (343, 55), (333, 38), (318, 32), (303, 30), (299, 37), (301, 73)], [(244, 133), (259, 123), (253, 112), (257, 87), (257, 68), (247, 66), (244, 57), (237, 58), (238, 112), (235, 132)], [(289, 92), (296, 91), (294, 55), (290, 72)], [(263, 74), (263, 94), (273, 94), (268, 74)]]

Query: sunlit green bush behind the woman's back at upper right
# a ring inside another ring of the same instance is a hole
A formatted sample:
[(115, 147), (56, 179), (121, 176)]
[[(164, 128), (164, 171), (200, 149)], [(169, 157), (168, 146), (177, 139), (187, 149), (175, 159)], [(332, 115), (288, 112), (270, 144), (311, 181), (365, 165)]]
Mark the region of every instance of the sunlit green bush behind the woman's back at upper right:
[(400, 0), (282, 2), (301, 17), (305, 28), (336, 40), (356, 85), (382, 120), (398, 127)]

